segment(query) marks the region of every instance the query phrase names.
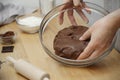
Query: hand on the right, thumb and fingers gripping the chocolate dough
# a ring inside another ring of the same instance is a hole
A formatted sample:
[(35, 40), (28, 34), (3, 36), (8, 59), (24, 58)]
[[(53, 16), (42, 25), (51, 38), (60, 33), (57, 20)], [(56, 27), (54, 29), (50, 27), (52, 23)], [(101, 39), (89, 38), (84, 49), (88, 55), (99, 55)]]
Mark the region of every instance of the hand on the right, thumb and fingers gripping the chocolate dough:
[(90, 42), (78, 59), (95, 58), (101, 55), (111, 44), (118, 27), (113, 18), (104, 17), (95, 22), (80, 38)]

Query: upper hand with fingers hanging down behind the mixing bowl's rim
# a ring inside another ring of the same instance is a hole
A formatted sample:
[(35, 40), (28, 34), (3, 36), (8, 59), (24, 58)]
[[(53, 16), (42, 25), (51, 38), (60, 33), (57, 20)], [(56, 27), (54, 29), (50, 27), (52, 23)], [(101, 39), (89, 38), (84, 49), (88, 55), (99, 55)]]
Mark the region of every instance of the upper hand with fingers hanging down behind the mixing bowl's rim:
[[(66, 5), (61, 7), (61, 11), (68, 9), (68, 8), (73, 8), (73, 7), (77, 7), (75, 8), (76, 12), (81, 16), (81, 18), (87, 23), (88, 19), (85, 16), (85, 14), (83, 13), (82, 9), (86, 10), (88, 13), (90, 13), (90, 11), (86, 8), (87, 5), (83, 2), (83, 0), (64, 0), (64, 2), (66, 3)], [(69, 2), (69, 3), (68, 3)], [(77, 25), (75, 18), (73, 16), (73, 10), (68, 10), (67, 11), (68, 17), (70, 22), (72, 23), (72, 25)], [(64, 17), (64, 12), (62, 12), (59, 15), (59, 23), (62, 24), (63, 23), (63, 17)]]

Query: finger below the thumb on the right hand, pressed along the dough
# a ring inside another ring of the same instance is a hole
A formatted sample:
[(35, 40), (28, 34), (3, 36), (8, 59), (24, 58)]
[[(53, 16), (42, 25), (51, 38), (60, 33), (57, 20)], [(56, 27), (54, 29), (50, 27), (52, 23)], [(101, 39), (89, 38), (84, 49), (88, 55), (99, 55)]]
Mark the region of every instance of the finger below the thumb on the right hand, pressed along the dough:
[(94, 50), (95, 50), (95, 46), (93, 45), (92, 42), (90, 42), (77, 59), (80, 60), (80, 59), (88, 58), (94, 52)]

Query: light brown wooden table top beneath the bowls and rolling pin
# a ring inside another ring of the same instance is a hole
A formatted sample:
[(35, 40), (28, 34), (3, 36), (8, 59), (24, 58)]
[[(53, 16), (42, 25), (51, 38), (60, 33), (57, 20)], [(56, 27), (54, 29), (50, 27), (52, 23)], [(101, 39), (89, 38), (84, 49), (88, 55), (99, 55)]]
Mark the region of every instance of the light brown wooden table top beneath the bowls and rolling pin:
[[(0, 33), (13, 30), (17, 33), (14, 52), (1, 53), (0, 60), (7, 56), (22, 58), (50, 74), (51, 80), (120, 80), (120, 54), (113, 49), (110, 55), (100, 63), (87, 68), (65, 66), (49, 57), (43, 50), (39, 34), (23, 33), (16, 22), (0, 28)], [(0, 51), (5, 45), (0, 44)], [(17, 74), (10, 63), (4, 63), (0, 69), (0, 80), (27, 80)]]

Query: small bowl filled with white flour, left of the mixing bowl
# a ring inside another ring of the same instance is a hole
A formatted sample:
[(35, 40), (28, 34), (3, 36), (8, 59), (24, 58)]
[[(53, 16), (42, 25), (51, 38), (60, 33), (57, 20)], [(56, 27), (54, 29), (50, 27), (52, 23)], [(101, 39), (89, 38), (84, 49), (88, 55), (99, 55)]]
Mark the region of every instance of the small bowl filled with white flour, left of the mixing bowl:
[(42, 18), (35, 17), (35, 16), (19, 17), (16, 19), (16, 22), (19, 24), (18, 27), (23, 32), (27, 32), (27, 33), (38, 32), (41, 21), (42, 21)]

